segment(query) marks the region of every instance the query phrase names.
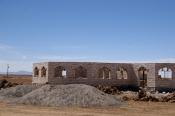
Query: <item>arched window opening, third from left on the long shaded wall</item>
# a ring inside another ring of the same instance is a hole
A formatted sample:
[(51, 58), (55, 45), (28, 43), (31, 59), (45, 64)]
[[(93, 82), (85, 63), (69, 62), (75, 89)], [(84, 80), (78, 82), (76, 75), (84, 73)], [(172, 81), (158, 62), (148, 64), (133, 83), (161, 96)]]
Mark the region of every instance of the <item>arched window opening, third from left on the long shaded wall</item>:
[(102, 79), (111, 79), (111, 70), (107, 67), (98, 70), (98, 77)]

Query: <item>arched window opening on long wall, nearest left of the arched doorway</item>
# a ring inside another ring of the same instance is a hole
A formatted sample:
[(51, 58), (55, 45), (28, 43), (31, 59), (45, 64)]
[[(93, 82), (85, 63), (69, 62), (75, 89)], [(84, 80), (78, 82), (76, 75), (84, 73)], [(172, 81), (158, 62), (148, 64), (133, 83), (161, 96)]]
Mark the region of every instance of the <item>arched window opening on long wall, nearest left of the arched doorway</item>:
[(117, 79), (128, 79), (128, 73), (127, 73), (126, 69), (119, 68), (117, 70)]

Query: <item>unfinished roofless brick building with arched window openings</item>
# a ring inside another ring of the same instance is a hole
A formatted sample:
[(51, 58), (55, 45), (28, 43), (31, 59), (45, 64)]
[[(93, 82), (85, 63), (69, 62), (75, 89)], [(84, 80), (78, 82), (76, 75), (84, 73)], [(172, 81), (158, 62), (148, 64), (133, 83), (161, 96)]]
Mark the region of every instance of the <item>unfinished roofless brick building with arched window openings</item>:
[(175, 89), (174, 63), (42, 62), (33, 64), (33, 84), (88, 84)]

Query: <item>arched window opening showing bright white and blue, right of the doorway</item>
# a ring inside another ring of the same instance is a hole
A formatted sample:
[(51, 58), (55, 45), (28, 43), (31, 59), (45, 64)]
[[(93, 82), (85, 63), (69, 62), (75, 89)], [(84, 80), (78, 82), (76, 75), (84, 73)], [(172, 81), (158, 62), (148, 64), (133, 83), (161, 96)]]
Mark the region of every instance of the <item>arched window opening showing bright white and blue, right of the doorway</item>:
[(163, 79), (172, 79), (172, 70), (170, 68), (164, 67), (158, 71), (158, 75)]

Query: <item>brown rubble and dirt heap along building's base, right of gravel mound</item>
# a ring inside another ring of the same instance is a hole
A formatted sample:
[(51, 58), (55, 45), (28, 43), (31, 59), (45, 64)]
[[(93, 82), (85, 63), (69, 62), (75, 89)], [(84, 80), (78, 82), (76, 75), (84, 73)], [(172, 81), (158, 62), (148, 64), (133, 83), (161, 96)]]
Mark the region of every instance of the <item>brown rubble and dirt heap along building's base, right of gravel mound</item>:
[(151, 93), (144, 88), (139, 88), (138, 92), (134, 91), (120, 91), (117, 87), (112, 86), (96, 86), (99, 90), (115, 95), (124, 101), (134, 100), (134, 101), (153, 101), (153, 102), (175, 102), (175, 92), (174, 93)]

